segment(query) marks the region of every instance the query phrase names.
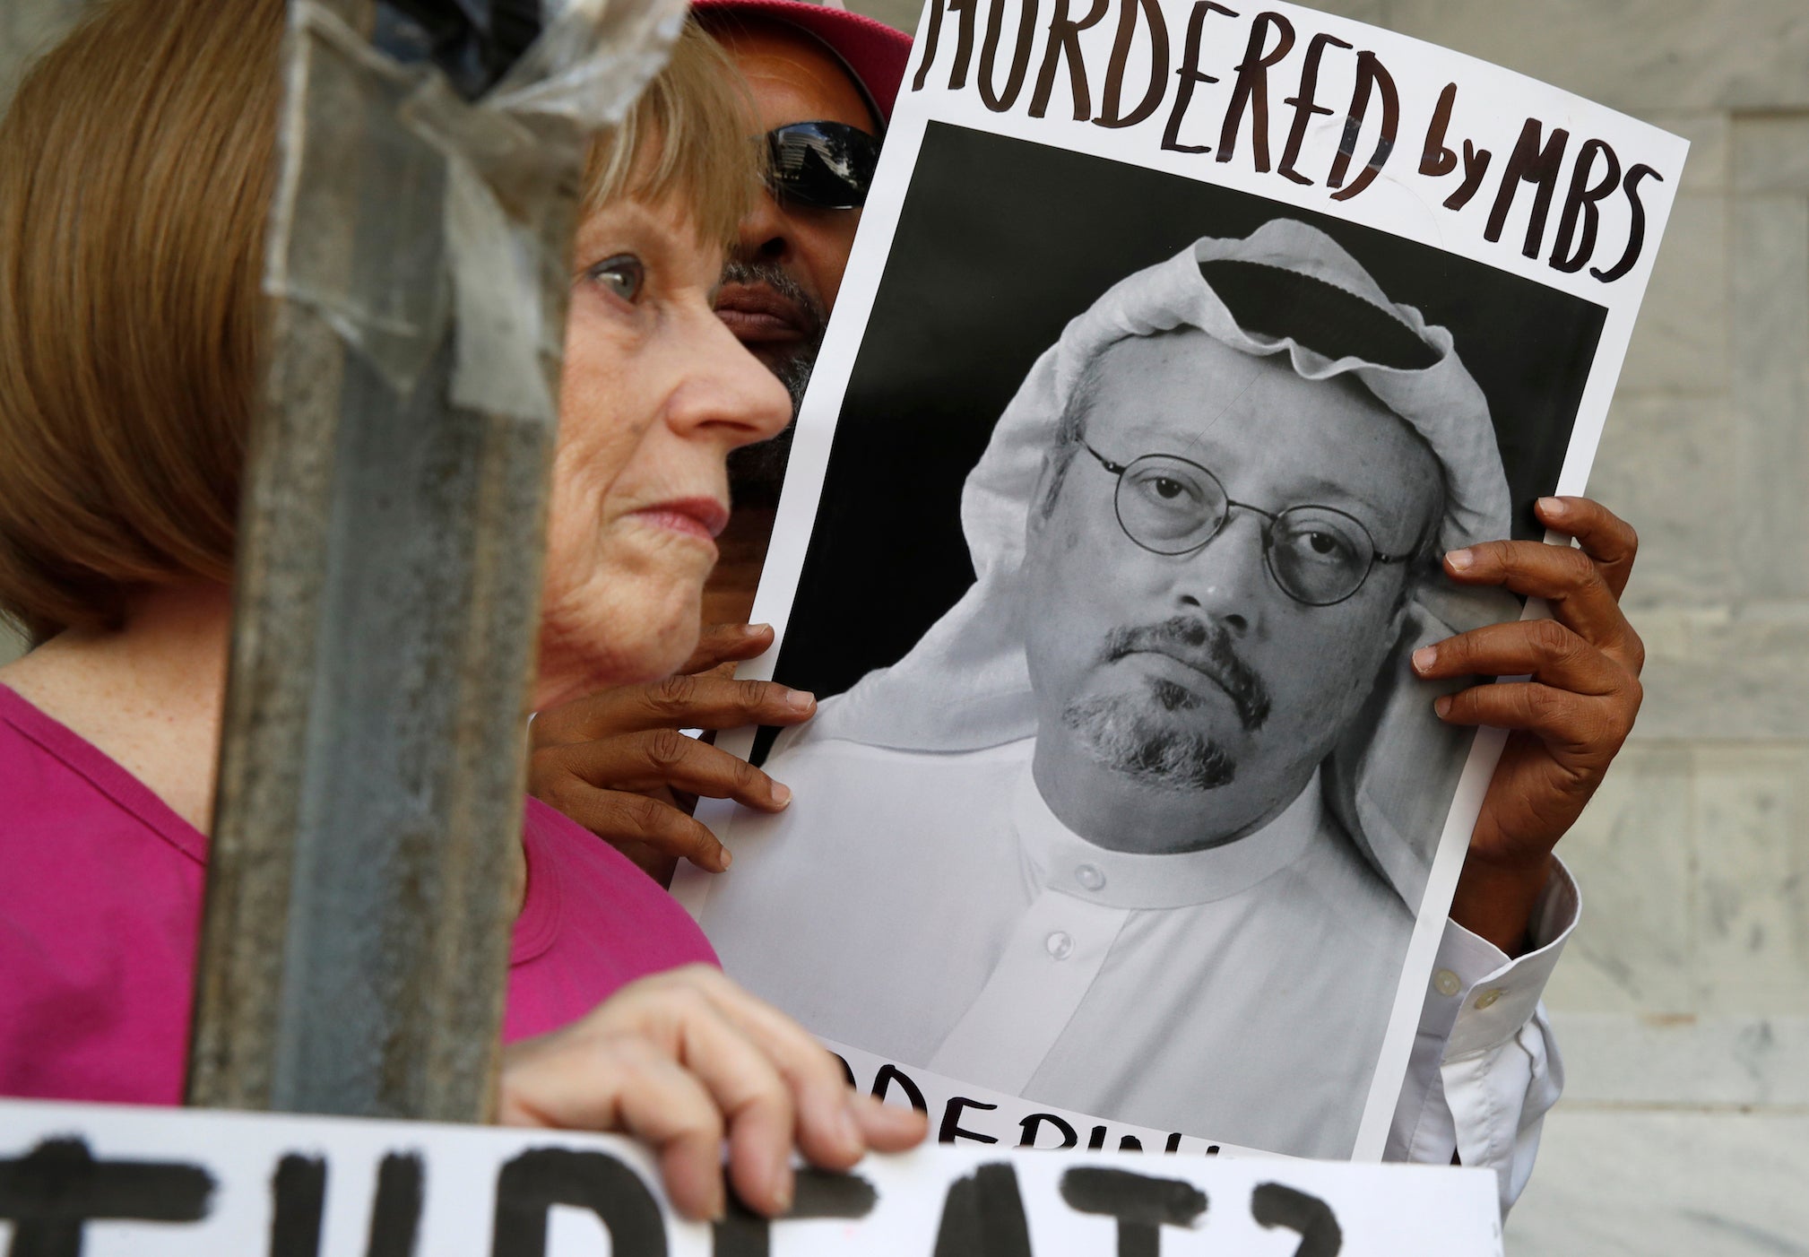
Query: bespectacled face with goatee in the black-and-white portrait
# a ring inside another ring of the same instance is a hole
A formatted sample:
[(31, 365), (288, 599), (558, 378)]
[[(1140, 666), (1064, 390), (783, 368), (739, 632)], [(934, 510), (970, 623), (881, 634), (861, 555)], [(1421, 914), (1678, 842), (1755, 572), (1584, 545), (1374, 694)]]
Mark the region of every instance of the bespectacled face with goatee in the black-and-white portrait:
[[(1435, 526), (1431, 450), (1355, 383), (1301, 380), (1198, 329), (1123, 340), (1096, 371), (1085, 441), (1116, 465), (1169, 454), (1263, 512), (1331, 506), (1384, 555), (1413, 553)], [(1266, 821), (1368, 696), (1409, 564), (1375, 564), (1342, 602), (1308, 606), (1272, 573), (1255, 510), (1230, 508), (1192, 553), (1152, 553), (1120, 525), (1120, 477), (1085, 449), (1044, 514), (1053, 468), (1031, 506), (1022, 606), (1038, 742), (1154, 790), (1214, 790), (1232, 830)], [(1165, 503), (1176, 488), (1147, 492)]]

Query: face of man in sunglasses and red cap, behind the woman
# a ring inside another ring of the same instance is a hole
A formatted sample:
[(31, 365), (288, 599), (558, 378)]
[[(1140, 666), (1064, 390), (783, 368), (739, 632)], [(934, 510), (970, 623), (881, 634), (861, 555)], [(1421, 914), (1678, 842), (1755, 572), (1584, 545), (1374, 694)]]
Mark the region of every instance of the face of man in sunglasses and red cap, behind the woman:
[[(876, 130), (848, 72), (809, 34), (754, 20), (718, 36), (753, 90), (763, 130), (807, 121)], [(859, 219), (859, 210), (821, 210), (771, 194), (742, 219), (716, 311), (794, 402), (816, 364)]]

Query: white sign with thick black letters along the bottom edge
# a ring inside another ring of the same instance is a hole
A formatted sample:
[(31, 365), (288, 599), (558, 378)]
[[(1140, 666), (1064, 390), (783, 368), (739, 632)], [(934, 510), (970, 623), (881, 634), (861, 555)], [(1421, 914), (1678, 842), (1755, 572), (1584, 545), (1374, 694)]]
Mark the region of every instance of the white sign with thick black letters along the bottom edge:
[(1501, 1233), (1494, 1176), (1449, 1167), (923, 1148), (704, 1224), (622, 1138), (0, 1101), (0, 1252), (1489, 1257)]

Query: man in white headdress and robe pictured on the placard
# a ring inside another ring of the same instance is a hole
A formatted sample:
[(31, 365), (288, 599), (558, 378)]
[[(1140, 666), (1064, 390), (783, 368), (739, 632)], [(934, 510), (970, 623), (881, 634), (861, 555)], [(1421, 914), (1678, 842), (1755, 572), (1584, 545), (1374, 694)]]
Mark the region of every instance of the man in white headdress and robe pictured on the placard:
[(962, 526), (966, 597), (767, 761), (727, 971), (979, 1087), (1348, 1156), (1469, 745), (1407, 657), (1516, 613), (1436, 566), (1509, 534), (1449, 333), (1302, 222), (1201, 239), (1042, 354)]

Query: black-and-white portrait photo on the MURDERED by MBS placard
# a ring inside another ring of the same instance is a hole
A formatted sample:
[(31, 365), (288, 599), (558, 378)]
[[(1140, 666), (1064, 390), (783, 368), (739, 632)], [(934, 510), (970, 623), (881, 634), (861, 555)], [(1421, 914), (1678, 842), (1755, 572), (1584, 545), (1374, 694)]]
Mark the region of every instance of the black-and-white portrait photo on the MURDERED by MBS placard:
[[(1350, 1156), (1601, 309), (1227, 188), (932, 125), (776, 678), (794, 790), (700, 915), (818, 1035)], [(1440, 908), (1442, 913), (1442, 908)]]

